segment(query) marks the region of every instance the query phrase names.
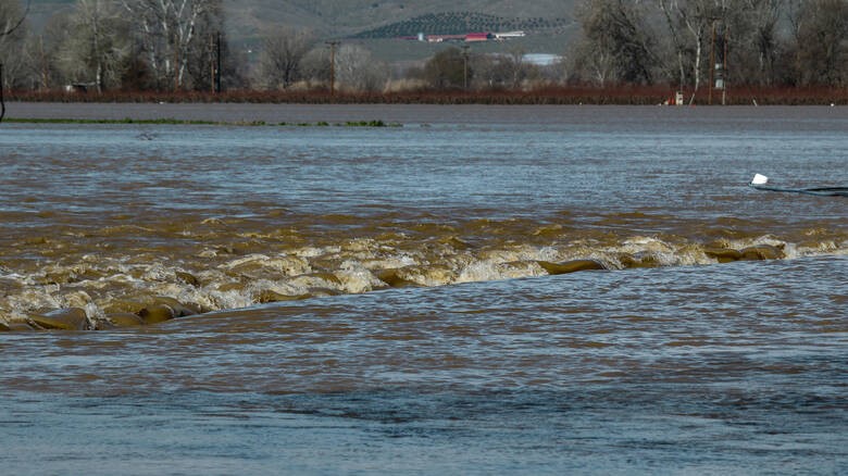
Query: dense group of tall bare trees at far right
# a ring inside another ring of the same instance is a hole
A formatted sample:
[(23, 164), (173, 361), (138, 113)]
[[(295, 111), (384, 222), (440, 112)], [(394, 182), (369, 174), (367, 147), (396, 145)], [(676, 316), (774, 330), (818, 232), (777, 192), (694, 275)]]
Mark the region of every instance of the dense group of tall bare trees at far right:
[(848, 85), (847, 0), (584, 0), (577, 17), (577, 80)]

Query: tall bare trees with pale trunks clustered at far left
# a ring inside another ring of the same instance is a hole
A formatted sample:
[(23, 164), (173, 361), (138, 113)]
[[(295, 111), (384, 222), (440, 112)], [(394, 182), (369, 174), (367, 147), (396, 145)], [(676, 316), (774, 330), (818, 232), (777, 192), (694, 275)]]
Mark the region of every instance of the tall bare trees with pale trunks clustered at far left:
[[(24, 13), (18, 1), (0, 0), (0, 22)], [(219, 75), (238, 76), (232, 63), (219, 68), (219, 57), (233, 58), (219, 41), (223, 20), (221, 0), (76, 0), (41, 32), (24, 23), (0, 38), (3, 86), (211, 88)]]

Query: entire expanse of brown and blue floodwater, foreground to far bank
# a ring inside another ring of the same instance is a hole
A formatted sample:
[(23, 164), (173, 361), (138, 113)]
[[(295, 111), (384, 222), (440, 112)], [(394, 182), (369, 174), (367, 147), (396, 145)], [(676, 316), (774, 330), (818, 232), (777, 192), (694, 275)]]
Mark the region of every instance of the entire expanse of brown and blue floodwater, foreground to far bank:
[(3, 473), (848, 471), (848, 110), (16, 105)]

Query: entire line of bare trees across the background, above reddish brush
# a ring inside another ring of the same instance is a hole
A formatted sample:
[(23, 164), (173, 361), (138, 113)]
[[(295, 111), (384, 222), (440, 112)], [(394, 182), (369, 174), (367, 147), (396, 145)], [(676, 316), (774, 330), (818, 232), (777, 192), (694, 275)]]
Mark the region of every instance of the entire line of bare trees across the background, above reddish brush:
[(515, 47), (482, 54), (454, 46), (403, 70), (357, 42), (331, 45), (290, 26), (260, 32), (250, 61), (227, 41), (222, 0), (76, 0), (38, 32), (21, 22), (27, 9), (0, 0), (5, 89), (848, 86), (848, 0), (582, 0), (579, 34), (553, 64), (532, 64)]

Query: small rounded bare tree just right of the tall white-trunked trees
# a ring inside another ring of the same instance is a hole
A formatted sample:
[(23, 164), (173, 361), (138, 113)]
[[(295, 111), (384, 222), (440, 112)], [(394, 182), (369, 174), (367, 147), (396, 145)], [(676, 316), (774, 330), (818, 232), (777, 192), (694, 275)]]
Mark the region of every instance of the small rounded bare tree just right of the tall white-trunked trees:
[(262, 35), (262, 51), (257, 65), (257, 83), (266, 89), (286, 89), (300, 79), (301, 62), (315, 43), (305, 29), (279, 27)]

